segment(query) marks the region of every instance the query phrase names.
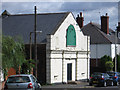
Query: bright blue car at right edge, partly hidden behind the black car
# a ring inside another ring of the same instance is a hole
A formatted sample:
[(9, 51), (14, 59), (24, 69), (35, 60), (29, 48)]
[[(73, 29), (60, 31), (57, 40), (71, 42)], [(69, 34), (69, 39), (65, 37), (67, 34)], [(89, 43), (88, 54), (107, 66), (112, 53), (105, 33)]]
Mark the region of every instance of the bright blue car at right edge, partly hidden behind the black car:
[(119, 72), (111, 71), (111, 72), (107, 72), (107, 74), (112, 77), (113, 84), (115, 86), (120, 84), (120, 73)]

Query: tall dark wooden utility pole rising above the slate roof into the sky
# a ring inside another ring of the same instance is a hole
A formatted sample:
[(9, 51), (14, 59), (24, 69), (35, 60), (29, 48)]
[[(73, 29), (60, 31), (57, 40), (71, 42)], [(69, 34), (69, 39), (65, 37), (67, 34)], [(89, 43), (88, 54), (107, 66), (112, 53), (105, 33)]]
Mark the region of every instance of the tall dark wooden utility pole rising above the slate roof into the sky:
[(36, 8), (36, 6), (35, 6), (35, 24), (34, 24), (34, 47), (35, 47), (35, 76), (36, 76), (36, 78), (37, 78), (37, 43), (36, 43), (36, 23), (37, 23), (37, 19), (36, 19), (36, 17), (37, 17), (37, 8)]

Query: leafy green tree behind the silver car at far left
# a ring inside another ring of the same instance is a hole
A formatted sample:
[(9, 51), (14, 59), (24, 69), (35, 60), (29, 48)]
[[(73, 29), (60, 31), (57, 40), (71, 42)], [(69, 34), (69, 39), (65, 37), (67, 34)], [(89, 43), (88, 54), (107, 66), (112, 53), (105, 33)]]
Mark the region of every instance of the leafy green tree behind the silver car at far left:
[[(16, 39), (16, 38), (15, 38)], [(8, 70), (13, 67), (19, 71), (19, 67), (25, 61), (24, 45), (20, 39), (16, 41), (10, 36), (2, 37), (2, 69), (5, 76)], [(17, 72), (18, 73), (18, 72)]]

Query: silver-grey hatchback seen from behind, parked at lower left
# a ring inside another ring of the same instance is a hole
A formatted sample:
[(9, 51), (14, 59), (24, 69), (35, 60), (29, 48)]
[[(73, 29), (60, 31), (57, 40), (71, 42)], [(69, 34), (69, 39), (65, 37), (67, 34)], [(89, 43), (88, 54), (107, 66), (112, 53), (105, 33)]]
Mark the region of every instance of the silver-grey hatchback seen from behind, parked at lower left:
[(5, 82), (4, 90), (41, 90), (41, 85), (32, 74), (11, 75)]

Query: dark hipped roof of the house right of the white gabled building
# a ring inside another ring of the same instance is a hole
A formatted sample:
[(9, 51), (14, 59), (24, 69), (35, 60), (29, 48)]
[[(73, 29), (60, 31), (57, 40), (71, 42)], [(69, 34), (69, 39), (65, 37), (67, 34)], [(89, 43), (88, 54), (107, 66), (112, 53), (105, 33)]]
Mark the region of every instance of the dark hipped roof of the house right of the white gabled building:
[[(115, 34), (112, 29), (109, 29), (109, 34), (107, 35), (101, 31), (101, 25), (90, 22), (82, 27), (81, 30), (84, 35), (90, 36), (91, 44), (115, 44)], [(120, 43), (118, 38), (117, 43)]]

